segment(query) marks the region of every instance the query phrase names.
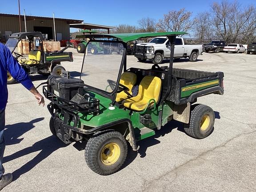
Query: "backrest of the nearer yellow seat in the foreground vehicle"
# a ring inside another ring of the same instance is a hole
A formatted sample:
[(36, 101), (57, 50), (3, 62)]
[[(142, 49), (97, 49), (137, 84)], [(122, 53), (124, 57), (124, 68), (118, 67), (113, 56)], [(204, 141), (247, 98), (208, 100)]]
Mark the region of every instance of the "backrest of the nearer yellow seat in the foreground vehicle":
[(162, 81), (159, 77), (145, 76), (140, 82), (138, 95), (143, 100), (154, 99), (157, 103), (160, 98), (161, 85)]

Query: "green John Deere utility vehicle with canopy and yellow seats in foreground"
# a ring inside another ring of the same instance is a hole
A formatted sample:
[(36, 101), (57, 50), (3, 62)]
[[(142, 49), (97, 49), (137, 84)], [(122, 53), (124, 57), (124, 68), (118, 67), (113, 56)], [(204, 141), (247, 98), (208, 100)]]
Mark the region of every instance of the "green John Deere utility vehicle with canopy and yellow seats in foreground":
[[(210, 135), (214, 111), (195, 103), (200, 96), (223, 95), (224, 74), (173, 68), (175, 38), (182, 34), (86, 36), (90, 39), (88, 46), (94, 42), (122, 44), (124, 53), (84, 54), (80, 79), (69, 77), (69, 72), (63, 72), (63, 77), (48, 77), (43, 92), (51, 101), (48, 110), (52, 134), (66, 144), (87, 140), (85, 161), (100, 175), (120, 170), (128, 145), (137, 151), (138, 141), (154, 136), (169, 121), (184, 123), (185, 132), (196, 139)], [(169, 66), (127, 68), (127, 42), (155, 36), (167, 36), (171, 42)]]

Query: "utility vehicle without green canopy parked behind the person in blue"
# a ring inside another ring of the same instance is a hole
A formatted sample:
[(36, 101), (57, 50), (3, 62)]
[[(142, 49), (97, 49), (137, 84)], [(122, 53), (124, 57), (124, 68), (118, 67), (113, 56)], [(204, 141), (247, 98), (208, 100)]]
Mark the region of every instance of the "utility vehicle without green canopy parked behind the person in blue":
[[(22, 39), (28, 39), (29, 44), (29, 55), (28, 58), (15, 52), (15, 49)], [(41, 32), (20, 32), (13, 33), (6, 46), (12, 53), (15, 54), (15, 59), (19, 61), (20, 65), (24, 70), (31, 73), (39, 73), (43, 75), (50, 75), (50, 72), (55, 75), (61, 75), (62, 70), (65, 68), (60, 65), (62, 61), (73, 61), (72, 52), (64, 52), (67, 48), (63, 48), (60, 51), (45, 52), (43, 47), (43, 36)], [(18, 58), (21, 57), (19, 60)], [(16, 80), (7, 73), (7, 84), (13, 84)]]

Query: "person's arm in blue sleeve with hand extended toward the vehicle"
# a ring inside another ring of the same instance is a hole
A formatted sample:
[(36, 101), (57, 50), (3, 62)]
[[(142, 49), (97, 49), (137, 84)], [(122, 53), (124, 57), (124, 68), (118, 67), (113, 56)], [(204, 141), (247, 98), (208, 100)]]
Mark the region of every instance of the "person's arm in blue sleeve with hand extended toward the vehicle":
[(44, 97), (36, 90), (32, 81), (29, 79), (28, 74), (20, 66), (17, 60), (13, 58), (12, 53), (5, 46), (4, 54), (6, 58), (8, 72), (12, 75), (12, 77), (15, 80), (19, 81), (25, 88), (27, 88), (30, 92), (34, 94), (34, 96), (38, 100), (39, 105), (42, 104), (44, 106)]

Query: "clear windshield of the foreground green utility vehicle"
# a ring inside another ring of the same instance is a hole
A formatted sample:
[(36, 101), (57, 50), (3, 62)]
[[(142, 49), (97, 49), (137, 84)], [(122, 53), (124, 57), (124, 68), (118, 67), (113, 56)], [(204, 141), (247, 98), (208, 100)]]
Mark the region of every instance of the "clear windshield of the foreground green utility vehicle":
[(109, 84), (117, 80), (123, 53), (123, 44), (91, 41), (85, 52), (81, 80), (86, 85), (112, 92), (113, 86)]

